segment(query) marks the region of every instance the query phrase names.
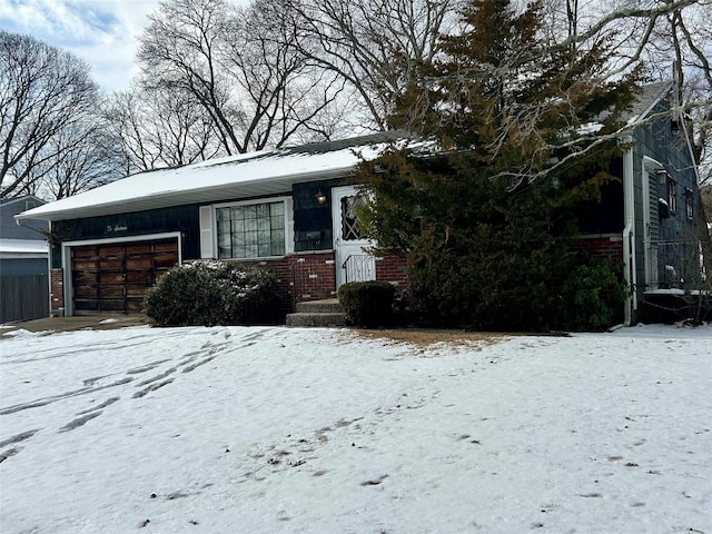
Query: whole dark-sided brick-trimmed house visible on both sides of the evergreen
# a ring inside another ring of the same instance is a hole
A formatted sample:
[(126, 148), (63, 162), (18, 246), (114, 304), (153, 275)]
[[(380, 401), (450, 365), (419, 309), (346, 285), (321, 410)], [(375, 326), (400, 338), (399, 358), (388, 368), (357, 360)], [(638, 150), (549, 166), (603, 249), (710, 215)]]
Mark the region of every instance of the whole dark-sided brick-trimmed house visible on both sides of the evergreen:
[[(621, 181), (584, 207), (583, 246), (621, 260), (635, 289), (626, 324), (646, 291), (699, 271), (686, 251), (669, 246), (692, 243), (690, 206), (699, 196), (685, 129), (664, 113), (671, 88), (645, 88), (621, 139), (630, 148), (611, 166)], [(20, 215), (51, 221), (52, 312), (138, 312), (157, 276), (199, 258), (269, 266), (290, 306), (333, 297), (350, 280), (404, 288), (402, 259), (363, 250), (359, 200), (344, 185), (362, 158), (377, 155), (378, 141), (384, 135), (144, 172)]]

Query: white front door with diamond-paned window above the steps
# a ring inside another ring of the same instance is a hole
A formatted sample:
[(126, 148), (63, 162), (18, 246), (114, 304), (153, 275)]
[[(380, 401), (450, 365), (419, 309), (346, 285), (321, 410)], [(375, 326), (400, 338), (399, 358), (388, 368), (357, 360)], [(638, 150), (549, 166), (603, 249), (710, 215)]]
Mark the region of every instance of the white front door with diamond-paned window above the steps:
[(347, 281), (376, 279), (376, 260), (364, 250), (370, 241), (358, 228), (354, 208), (364, 198), (350, 186), (332, 189), (332, 220), (334, 221), (334, 250), (336, 253), (336, 288)]

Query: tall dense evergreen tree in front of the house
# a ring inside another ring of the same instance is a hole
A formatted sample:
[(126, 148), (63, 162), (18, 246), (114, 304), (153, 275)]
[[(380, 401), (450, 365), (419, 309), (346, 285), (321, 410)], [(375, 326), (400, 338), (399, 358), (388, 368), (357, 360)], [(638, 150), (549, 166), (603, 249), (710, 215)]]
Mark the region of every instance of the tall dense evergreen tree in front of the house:
[[(550, 329), (571, 324), (574, 207), (613, 179), (621, 112), (637, 72), (606, 79), (604, 39), (544, 39), (541, 6), (472, 0), (392, 117), (423, 140), (393, 145), (356, 180), (380, 251), (407, 254), (412, 298), (433, 324)], [(591, 136), (591, 123), (599, 125)], [(591, 267), (593, 270), (597, 266)]]

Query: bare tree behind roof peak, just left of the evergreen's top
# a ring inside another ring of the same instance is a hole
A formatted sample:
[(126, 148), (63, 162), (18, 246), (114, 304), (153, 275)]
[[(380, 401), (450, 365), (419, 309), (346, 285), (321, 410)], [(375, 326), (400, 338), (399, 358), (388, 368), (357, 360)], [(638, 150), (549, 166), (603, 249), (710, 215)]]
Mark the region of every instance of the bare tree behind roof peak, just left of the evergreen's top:
[(462, 0), (283, 0), (288, 43), (355, 93), (354, 122), (388, 129), (394, 102), (431, 61)]

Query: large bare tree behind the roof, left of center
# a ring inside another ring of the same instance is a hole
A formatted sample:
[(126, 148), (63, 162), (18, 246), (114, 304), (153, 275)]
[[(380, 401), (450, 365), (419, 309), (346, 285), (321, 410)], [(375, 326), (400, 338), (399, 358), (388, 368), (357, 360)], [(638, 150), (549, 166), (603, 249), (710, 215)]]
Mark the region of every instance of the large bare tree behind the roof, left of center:
[(335, 77), (310, 68), (278, 38), (284, 24), (273, 14), (279, 7), (267, 7), (169, 0), (140, 39), (141, 85), (190, 95), (228, 155), (315, 134), (310, 125), (324, 125), (340, 91)]

